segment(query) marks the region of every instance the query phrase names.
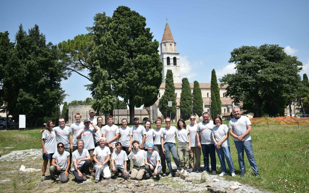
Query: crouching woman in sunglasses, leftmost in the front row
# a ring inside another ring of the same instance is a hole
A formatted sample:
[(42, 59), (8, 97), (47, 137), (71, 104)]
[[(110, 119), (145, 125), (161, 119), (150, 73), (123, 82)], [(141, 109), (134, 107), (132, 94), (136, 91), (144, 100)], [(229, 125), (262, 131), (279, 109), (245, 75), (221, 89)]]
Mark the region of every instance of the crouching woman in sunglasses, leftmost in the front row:
[(64, 150), (63, 143), (57, 144), (58, 152), (53, 154), (52, 166), (49, 167), (50, 178), (53, 185), (56, 182), (55, 175), (60, 174), (61, 183), (67, 183), (69, 181), (69, 167), (70, 167), (70, 153)]

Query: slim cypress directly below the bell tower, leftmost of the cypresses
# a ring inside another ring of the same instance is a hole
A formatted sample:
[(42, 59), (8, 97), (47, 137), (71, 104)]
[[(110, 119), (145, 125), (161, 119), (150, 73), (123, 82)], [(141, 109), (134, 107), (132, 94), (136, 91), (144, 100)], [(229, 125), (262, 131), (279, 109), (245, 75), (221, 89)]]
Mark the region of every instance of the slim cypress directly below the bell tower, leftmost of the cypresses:
[[(172, 107), (168, 107), (168, 101), (172, 102)], [(173, 79), (172, 70), (167, 70), (166, 78), (165, 78), (165, 91), (159, 100), (159, 110), (162, 115), (165, 117), (170, 117), (171, 119), (175, 119), (176, 116), (176, 96), (175, 96), (175, 85)], [(170, 115), (171, 110), (171, 115)]]

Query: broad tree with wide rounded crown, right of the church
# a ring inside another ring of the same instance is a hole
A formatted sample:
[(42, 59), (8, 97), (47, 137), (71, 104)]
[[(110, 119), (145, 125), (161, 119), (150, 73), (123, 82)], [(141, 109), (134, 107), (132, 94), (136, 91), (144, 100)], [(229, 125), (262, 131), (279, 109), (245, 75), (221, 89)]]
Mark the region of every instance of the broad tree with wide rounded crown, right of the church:
[(265, 112), (273, 114), (272, 107), (280, 105), (284, 109), (283, 104), (296, 98), (302, 63), (279, 45), (235, 48), (229, 62), (235, 63), (236, 73), (226, 74), (220, 81), (228, 84), (227, 96), (236, 104), (243, 102), (243, 109), (254, 112), (254, 117), (262, 116), (265, 102), (269, 105)]

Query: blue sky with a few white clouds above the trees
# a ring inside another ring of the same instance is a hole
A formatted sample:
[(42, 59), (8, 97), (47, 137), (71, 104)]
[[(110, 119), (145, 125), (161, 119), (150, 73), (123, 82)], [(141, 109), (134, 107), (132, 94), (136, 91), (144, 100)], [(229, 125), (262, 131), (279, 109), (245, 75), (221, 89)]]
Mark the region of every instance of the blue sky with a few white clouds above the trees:
[[(234, 71), (230, 52), (242, 45), (279, 44), (297, 56), (309, 74), (309, 1), (0, 1), (0, 31), (9, 31), (11, 41), (20, 23), (24, 30), (37, 24), (46, 40), (58, 44), (87, 33), (93, 16), (112, 16), (120, 5), (146, 18), (154, 39), (161, 42), (168, 19), (182, 78), (189, 82), (210, 82), (211, 70), (217, 78)], [(85, 72), (87, 73), (87, 72)], [(85, 100), (90, 92), (87, 79), (73, 74), (62, 81), (67, 102)]]

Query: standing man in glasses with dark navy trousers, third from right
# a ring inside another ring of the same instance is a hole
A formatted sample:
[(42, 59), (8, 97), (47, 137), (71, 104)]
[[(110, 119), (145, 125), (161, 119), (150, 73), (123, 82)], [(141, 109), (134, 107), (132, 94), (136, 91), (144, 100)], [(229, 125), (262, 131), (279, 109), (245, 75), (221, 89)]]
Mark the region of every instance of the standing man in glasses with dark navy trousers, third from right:
[(210, 121), (209, 113), (203, 113), (203, 120), (197, 125), (197, 145), (202, 148), (204, 156), (204, 171), (209, 170), (209, 157), (212, 174), (217, 174), (216, 167), (216, 149), (214, 145), (214, 140), (212, 138), (212, 132), (214, 128), (214, 123)]

